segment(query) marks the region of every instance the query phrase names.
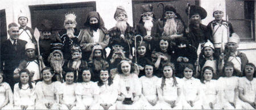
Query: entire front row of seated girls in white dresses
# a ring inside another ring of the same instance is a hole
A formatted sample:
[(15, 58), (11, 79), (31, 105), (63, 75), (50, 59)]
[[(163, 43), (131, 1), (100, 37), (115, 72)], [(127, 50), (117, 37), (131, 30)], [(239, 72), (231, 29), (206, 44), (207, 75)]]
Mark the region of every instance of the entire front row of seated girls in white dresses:
[[(154, 64), (144, 67), (145, 75), (134, 74), (134, 64), (123, 60), (118, 73), (100, 71), (100, 81), (90, 81), (92, 73), (84, 69), (79, 76), (70, 69), (65, 82), (55, 81), (50, 67), (42, 70), (43, 79), (36, 84), (24, 69), (14, 94), (4, 75), (0, 75), (0, 109), (255, 109), (255, 66), (247, 64), (245, 77), (236, 77), (232, 62), (223, 67), (218, 80), (210, 66), (203, 68), (201, 81), (193, 78), (192, 64), (183, 67), (183, 78), (175, 77), (174, 65), (164, 64), (162, 78), (154, 74)], [(114, 76), (114, 78), (113, 78)], [(80, 82), (74, 82), (76, 77)]]

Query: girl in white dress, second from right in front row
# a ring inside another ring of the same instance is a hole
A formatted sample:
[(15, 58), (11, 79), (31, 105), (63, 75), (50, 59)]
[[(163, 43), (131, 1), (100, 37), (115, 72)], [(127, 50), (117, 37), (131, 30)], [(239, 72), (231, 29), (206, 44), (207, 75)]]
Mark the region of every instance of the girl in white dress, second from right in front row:
[(225, 76), (218, 79), (222, 103), (221, 109), (242, 109), (240, 104), (237, 103), (239, 78), (235, 76), (234, 64), (226, 62), (222, 72)]

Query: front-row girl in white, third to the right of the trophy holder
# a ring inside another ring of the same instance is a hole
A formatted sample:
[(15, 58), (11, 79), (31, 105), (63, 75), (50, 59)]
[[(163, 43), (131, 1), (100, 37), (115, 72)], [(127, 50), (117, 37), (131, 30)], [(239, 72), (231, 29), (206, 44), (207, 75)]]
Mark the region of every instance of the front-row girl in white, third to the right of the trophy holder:
[(201, 102), (201, 82), (193, 77), (195, 69), (192, 64), (185, 64), (183, 67), (183, 94), (184, 94), (184, 109), (202, 109)]

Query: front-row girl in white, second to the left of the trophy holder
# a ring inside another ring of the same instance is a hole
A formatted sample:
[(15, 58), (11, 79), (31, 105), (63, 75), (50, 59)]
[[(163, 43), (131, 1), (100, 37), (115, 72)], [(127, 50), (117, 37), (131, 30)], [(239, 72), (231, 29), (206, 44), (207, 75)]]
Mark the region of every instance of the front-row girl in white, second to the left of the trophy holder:
[(90, 81), (92, 76), (90, 71), (85, 68), (79, 76), (82, 77), (82, 82), (77, 83), (75, 88), (77, 109), (98, 109), (100, 88), (96, 83)]

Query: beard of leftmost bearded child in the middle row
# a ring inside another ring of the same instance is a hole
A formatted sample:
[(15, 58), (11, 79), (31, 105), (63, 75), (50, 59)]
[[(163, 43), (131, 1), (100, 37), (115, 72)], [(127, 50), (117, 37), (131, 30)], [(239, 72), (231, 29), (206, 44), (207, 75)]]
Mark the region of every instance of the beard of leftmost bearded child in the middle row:
[(62, 66), (64, 64), (64, 60), (57, 60), (55, 58), (51, 58), (51, 67), (56, 73), (62, 73)]

